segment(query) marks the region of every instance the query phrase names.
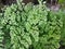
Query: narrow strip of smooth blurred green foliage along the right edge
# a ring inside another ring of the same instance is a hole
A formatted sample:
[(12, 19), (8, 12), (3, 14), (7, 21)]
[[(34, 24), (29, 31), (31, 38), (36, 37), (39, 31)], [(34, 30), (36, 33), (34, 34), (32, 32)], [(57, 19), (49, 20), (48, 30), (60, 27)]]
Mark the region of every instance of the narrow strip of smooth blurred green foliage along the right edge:
[(62, 17), (63, 17), (63, 27), (62, 27), (62, 33), (61, 33), (61, 45), (65, 46), (65, 10), (62, 12)]

